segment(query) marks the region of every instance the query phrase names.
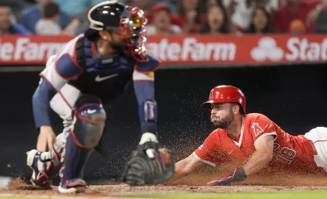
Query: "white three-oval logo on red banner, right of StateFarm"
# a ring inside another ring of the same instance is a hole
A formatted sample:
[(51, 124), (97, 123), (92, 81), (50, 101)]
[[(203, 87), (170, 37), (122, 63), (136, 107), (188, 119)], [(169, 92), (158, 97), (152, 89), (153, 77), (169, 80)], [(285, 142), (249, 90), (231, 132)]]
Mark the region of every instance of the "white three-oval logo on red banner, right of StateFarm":
[(251, 57), (256, 61), (279, 61), (284, 57), (283, 49), (277, 46), (276, 41), (270, 37), (261, 38), (258, 46), (251, 50)]

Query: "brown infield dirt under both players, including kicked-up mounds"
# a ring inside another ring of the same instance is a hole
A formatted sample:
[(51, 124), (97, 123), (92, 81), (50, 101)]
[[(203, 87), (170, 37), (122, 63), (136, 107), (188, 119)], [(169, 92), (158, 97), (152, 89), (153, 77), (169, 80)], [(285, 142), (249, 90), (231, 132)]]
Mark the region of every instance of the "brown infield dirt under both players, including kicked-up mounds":
[(50, 190), (38, 190), (38, 187), (13, 180), (7, 188), (0, 188), (0, 196), (39, 195), (39, 196), (80, 196), (80, 197), (114, 197), (126, 193), (231, 193), (243, 191), (276, 191), (276, 190), (327, 190), (327, 177), (317, 176), (283, 176), (252, 177), (233, 186), (205, 186), (208, 179), (204, 176), (192, 175), (167, 185), (130, 187), (117, 185), (88, 186), (86, 193), (59, 194), (57, 187)]

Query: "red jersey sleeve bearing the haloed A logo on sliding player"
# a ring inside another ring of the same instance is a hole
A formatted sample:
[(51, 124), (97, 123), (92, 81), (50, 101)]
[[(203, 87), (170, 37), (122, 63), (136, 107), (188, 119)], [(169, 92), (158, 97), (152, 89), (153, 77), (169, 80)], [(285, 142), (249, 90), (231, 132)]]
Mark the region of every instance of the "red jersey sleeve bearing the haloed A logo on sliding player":
[(273, 135), (277, 139), (277, 132), (274, 123), (263, 114), (255, 114), (250, 119), (249, 132), (254, 145), (264, 136)]

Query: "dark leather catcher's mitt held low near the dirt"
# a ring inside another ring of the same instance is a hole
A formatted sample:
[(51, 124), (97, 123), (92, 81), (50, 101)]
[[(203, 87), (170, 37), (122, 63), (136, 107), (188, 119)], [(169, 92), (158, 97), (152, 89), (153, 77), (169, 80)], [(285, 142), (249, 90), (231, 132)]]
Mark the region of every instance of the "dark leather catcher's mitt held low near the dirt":
[[(149, 150), (153, 154), (149, 155)], [(151, 185), (164, 182), (174, 174), (175, 162), (168, 149), (155, 142), (146, 142), (132, 153), (121, 180), (128, 185)]]

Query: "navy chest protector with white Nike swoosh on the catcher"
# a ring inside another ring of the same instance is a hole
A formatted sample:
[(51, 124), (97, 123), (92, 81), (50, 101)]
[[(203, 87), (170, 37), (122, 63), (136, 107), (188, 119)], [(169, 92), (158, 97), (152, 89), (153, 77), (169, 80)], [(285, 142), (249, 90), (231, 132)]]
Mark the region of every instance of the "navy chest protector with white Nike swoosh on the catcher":
[(86, 38), (77, 41), (76, 60), (83, 72), (69, 84), (82, 93), (100, 97), (103, 102), (123, 94), (132, 82), (135, 59), (125, 54), (96, 57), (92, 54), (91, 42)]

